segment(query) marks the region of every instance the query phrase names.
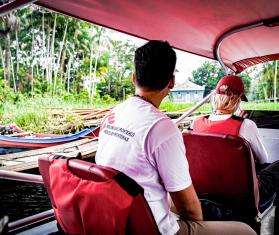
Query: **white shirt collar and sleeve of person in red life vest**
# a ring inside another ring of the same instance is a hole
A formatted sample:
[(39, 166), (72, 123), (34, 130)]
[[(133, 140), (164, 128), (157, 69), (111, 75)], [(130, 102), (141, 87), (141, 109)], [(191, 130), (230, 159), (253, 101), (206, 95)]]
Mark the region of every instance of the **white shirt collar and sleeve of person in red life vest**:
[[(211, 114), (208, 119), (210, 121), (220, 121), (220, 120), (226, 120), (231, 116), (232, 116), (231, 114), (223, 114), (223, 115)], [(267, 151), (263, 145), (263, 142), (259, 134), (259, 130), (255, 122), (245, 118), (239, 129), (239, 136), (246, 139), (250, 143), (250, 146), (255, 154), (255, 157), (260, 164), (268, 162)]]

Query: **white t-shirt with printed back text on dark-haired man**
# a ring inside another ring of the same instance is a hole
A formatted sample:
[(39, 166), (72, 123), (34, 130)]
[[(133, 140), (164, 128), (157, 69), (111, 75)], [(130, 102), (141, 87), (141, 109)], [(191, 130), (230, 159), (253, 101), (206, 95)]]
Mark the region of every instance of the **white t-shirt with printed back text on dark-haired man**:
[(178, 231), (167, 192), (183, 190), (192, 181), (182, 134), (165, 114), (138, 97), (116, 106), (102, 124), (96, 163), (125, 173), (143, 187), (162, 234)]

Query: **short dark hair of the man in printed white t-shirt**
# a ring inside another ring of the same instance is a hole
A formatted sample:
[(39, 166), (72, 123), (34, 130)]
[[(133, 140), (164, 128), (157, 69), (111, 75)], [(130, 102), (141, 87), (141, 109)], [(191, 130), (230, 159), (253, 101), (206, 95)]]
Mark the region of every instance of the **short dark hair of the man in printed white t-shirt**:
[(152, 40), (135, 52), (136, 84), (162, 90), (173, 78), (176, 54), (167, 41)]

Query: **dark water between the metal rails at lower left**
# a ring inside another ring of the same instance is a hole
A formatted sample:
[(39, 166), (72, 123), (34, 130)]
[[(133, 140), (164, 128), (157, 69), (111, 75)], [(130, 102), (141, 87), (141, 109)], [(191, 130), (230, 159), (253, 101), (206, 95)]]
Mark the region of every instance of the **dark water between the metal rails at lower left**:
[(51, 209), (43, 185), (1, 180), (0, 191), (0, 216), (10, 221)]

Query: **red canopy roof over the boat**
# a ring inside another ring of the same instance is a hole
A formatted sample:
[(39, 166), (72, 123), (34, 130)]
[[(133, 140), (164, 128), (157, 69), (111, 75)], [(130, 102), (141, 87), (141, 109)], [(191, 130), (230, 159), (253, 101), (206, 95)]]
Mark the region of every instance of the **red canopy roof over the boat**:
[(278, 0), (15, 2), (35, 2), (143, 39), (167, 40), (177, 49), (211, 59), (221, 58), (236, 73), (279, 59)]

